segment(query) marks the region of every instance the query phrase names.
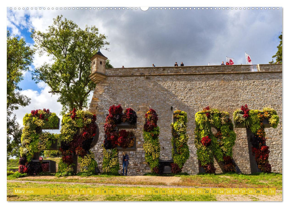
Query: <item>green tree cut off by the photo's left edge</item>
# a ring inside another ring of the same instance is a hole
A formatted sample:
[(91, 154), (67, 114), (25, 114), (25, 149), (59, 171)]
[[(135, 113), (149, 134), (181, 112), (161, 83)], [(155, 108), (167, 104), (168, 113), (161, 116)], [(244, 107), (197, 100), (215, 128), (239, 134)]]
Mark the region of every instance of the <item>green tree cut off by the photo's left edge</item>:
[(7, 160), (19, 156), (22, 129), (13, 111), (30, 103), (30, 98), (21, 94), (18, 83), (29, 70), (33, 55), (34, 51), (23, 38), (12, 37), (7, 30)]

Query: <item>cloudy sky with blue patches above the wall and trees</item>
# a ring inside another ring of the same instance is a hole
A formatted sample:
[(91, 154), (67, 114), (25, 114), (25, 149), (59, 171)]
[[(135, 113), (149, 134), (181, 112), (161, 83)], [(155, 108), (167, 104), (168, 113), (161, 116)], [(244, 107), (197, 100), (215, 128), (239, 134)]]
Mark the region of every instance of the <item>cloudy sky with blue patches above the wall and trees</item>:
[[(235, 64), (246, 64), (245, 51), (251, 55), (253, 64), (267, 64), (276, 53), (279, 35), (282, 32), (282, 7), (277, 10), (248, 10), (235, 7), (231, 10), (217, 10), (212, 7), (152, 7), (147, 11), (127, 10), (127, 7), (110, 7), (98, 10), (98, 7), (39, 7), (35, 10), (10, 10), (7, 8), (7, 29), (11, 34), (24, 37), (27, 44), (34, 44), (30, 38), (30, 29), (44, 32), (53, 23), (53, 18), (74, 21), (84, 29), (85, 25), (95, 25), (101, 34), (107, 36), (109, 51), (101, 50), (108, 57), (113, 67), (150, 67), (173, 66), (183, 62), (185, 66), (219, 65), (226, 62), (226, 56), (234, 58)], [(74, 10), (72, 8), (75, 8)], [(81, 10), (83, 8), (83, 10)], [(91, 10), (89, 9), (91, 8)], [(157, 9), (158, 8), (158, 9)], [(162, 8), (162, 10), (160, 9)], [(179, 9), (177, 9), (179, 8)], [(181, 10), (183, 8), (183, 10)], [(185, 10), (187, 8), (187, 10)], [(191, 8), (191, 10), (190, 10)], [(43, 62), (49, 62), (47, 56), (35, 55), (31, 70)], [(31, 73), (24, 75), (20, 83), (23, 94), (30, 97), (31, 104), (16, 111), (17, 120), (22, 124), (25, 113), (32, 109), (49, 108), (59, 114), (61, 105), (56, 102), (57, 96), (48, 93), (45, 83), (35, 84)]]

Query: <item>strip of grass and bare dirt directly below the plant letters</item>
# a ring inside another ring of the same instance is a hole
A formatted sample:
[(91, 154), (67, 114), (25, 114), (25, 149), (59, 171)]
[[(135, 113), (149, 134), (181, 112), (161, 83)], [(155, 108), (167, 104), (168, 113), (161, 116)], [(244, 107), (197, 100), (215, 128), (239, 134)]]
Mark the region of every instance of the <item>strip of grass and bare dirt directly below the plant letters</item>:
[(7, 176), (7, 180), (97, 183), (115, 185), (152, 185), (152, 186), (184, 186), (184, 187), (219, 187), (219, 188), (276, 188), (282, 190), (282, 174), (198, 174), (176, 176), (110, 176), (96, 175), (90, 177), (69, 176), (30, 176), (15, 178)]

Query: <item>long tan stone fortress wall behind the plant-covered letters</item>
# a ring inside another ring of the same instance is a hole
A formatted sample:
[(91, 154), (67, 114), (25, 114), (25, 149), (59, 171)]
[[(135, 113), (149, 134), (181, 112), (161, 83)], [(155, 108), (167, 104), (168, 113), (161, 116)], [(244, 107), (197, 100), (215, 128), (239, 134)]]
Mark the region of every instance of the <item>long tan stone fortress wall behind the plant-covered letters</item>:
[[(131, 107), (138, 116), (137, 129), (133, 130), (136, 151), (128, 152), (128, 175), (150, 172), (144, 159), (142, 134), (148, 108), (156, 110), (159, 117), (160, 159), (163, 160), (172, 158), (172, 113), (175, 109), (187, 112), (190, 157), (183, 172), (198, 174), (194, 144), (195, 114), (209, 105), (229, 112), (232, 119), (233, 112), (247, 104), (250, 109), (271, 107), (279, 115), (278, 127), (266, 128), (265, 131), (271, 151), (269, 163), (272, 172), (282, 173), (282, 64), (259, 64), (257, 72), (251, 72), (249, 65), (113, 68), (105, 69), (105, 73), (94, 69), (90, 78), (97, 84), (89, 110), (96, 114), (100, 128), (99, 141), (92, 150), (101, 171), (103, 125), (109, 107), (113, 104), (121, 104), (124, 109), (125, 106)], [(250, 174), (246, 129), (234, 130), (237, 139), (233, 147), (233, 158), (242, 173)], [(121, 152), (119, 160), (121, 163)], [(221, 172), (216, 162), (215, 167), (217, 173)]]

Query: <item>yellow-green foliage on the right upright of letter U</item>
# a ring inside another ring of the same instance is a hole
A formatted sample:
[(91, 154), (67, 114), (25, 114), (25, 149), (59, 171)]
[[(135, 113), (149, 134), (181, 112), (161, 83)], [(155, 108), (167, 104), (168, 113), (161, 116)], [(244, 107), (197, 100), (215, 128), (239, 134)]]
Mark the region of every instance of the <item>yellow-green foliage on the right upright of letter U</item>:
[[(188, 147), (188, 135), (187, 135), (187, 113), (184, 111), (174, 111), (174, 118), (176, 122), (171, 124), (172, 130), (172, 156), (174, 163), (181, 169), (190, 156)], [(174, 151), (174, 146), (176, 152)]]

